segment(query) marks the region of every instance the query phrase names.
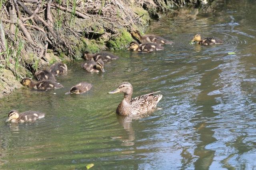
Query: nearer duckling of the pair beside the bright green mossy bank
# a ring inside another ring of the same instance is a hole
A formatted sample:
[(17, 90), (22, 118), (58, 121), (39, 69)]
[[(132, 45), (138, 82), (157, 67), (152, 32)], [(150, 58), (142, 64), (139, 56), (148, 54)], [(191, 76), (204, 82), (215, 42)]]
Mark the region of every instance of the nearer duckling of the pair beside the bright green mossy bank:
[(143, 52), (151, 52), (151, 51), (154, 51), (154, 50), (162, 50), (164, 49), (161, 45), (158, 45), (156, 43), (142, 43), (142, 44), (139, 44), (135, 41), (131, 42), (130, 43), (130, 46), (129, 46), (129, 49), (130, 50), (133, 50), (133, 51), (142, 51)]

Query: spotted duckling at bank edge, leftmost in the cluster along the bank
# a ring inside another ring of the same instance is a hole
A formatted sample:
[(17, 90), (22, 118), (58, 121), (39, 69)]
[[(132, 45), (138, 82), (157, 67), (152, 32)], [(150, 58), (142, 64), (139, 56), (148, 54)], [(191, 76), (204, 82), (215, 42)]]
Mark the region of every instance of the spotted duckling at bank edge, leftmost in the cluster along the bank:
[(38, 90), (63, 88), (63, 86), (61, 84), (58, 84), (57, 82), (53, 82), (50, 80), (42, 80), (39, 82), (34, 82), (31, 78), (23, 78), (21, 81), (21, 84), (23, 86), (27, 86), (29, 88), (34, 88)]

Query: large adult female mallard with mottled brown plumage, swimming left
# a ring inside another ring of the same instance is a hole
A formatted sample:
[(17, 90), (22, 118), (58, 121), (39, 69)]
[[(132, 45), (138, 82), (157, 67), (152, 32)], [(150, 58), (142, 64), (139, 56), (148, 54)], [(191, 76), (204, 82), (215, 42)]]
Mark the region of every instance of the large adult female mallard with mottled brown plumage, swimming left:
[(120, 92), (124, 93), (124, 99), (118, 105), (116, 113), (122, 116), (143, 114), (152, 111), (156, 108), (156, 105), (162, 99), (162, 94), (153, 96), (153, 94), (160, 91), (145, 94), (143, 96), (132, 99), (132, 84), (128, 82), (121, 83), (116, 90), (108, 92), (108, 94)]

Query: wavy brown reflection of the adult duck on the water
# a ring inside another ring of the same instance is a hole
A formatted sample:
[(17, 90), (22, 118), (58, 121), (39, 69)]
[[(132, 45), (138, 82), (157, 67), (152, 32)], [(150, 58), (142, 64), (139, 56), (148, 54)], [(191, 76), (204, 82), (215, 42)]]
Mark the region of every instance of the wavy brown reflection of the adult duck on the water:
[[(152, 111), (153, 112), (153, 111)], [(122, 146), (133, 146), (135, 140), (135, 131), (132, 128), (132, 120), (138, 120), (145, 117), (148, 117), (152, 112), (146, 113), (143, 115), (134, 115), (134, 116), (120, 116), (116, 115), (118, 122), (128, 131), (128, 139), (122, 140)]]

